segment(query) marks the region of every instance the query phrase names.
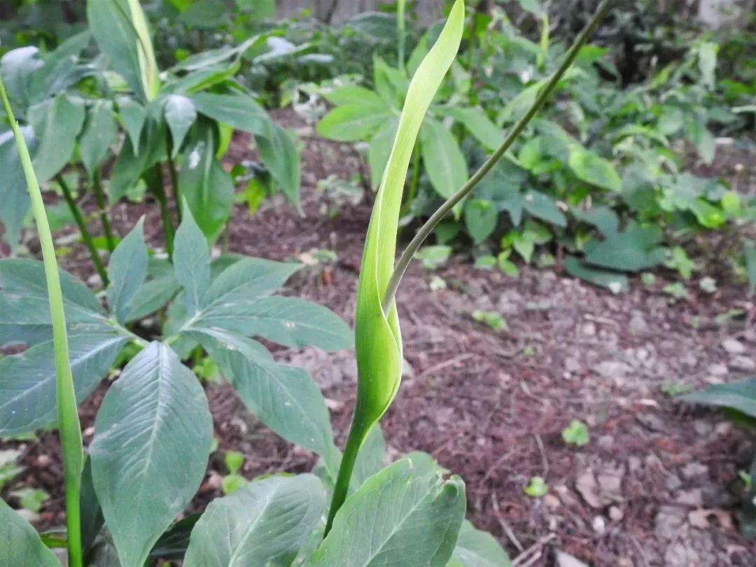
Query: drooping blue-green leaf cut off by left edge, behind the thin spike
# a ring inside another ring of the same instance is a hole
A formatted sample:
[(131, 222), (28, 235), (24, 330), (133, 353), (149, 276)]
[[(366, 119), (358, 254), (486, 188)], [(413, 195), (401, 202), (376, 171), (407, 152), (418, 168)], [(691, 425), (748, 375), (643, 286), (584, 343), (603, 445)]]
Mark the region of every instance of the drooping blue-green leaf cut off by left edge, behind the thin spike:
[[(29, 151), (36, 147), (36, 137), (31, 126), (21, 128)], [(29, 192), (23, 176), (21, 161), (13, 132), (0, 132), (0, 222), (5, 226), (3, 238), (15, 249), (23, 218), (29, 211)]]

